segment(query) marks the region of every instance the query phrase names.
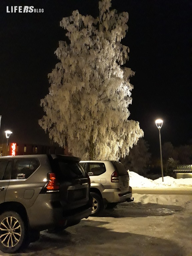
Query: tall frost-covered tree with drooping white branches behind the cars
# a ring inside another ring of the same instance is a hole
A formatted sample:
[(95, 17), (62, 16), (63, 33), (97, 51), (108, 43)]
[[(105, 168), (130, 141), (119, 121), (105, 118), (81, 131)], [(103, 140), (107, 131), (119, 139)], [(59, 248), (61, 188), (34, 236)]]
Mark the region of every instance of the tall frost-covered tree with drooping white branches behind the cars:
[(49, 94), (41, 100), (46, 115), (40, 126), (85, 160), (124, 157), (143, 136), (139, 123), (128, 120), (134, 72), (122, 67), (129, 48), (121, 44), (128, 13), (110, 7), (111, 1), (103, 0), (97, 18), (76, 10), (62, 19), (69, 42), (59, 42), (60, 62), (48, 75)]

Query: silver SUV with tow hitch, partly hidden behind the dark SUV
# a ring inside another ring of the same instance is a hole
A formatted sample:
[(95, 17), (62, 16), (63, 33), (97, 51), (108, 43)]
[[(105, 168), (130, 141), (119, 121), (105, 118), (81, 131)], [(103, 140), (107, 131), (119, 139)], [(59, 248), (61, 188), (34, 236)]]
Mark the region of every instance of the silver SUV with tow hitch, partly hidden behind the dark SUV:
[(129, 174), (117, 161), (80, 161), (91, 180), (93, 209), (91, 216), (97, 216), (103, 208), (113, 208), (117, 203), (133, 201)]

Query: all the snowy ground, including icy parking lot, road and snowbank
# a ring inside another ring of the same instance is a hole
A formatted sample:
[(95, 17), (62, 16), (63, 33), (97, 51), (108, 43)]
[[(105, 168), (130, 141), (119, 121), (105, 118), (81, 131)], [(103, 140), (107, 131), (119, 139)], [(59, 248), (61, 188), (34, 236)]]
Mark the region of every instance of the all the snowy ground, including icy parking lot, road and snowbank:
[[(129, 175), (135, 190), (192, 188), (192, 178), (164, 177), (162, 183), (162, 178), (153, 181), (134, 172)], [(59, 234), (42, 231), (37, 242), (14, 256), (192, 256), (192, 194), (141, 191), (133, 196), (133, 202), (83, 219)]]

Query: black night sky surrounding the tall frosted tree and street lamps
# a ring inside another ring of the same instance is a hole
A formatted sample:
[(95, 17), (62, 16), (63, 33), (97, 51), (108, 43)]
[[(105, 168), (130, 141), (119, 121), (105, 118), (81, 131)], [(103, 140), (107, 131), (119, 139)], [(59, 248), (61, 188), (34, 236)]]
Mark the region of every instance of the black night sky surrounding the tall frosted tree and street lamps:
[[(7, 13), (6, 6), (34, 6), (43, 13)], [(40, 99), (48, 93), (47, 74), (58, 62), (54, 51), (65, 31), (62, 17), (78, 9), (98, 15), (96, 0), (0, 1), (0, 143), (47, 144), (38, 125)], [(112, 9), (129, 13), (123, 44), (127, 67), (135, 71), (130, 119), (139, 121), (150, 151), (159, 150), (155, 119), (164, 120), (162, 144), (192, 143), (192, 0), (112, 0)]]

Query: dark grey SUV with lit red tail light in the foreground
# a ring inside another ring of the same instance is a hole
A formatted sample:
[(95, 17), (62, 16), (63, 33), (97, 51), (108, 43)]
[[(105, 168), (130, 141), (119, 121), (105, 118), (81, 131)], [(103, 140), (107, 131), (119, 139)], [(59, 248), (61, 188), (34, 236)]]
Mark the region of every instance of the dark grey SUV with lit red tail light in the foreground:
[(62, 230), (92, 211), (90, 179), (80, 158), (0, 157), (0, 250), (14, 253), (42, 230)]

